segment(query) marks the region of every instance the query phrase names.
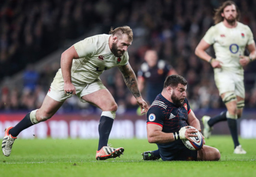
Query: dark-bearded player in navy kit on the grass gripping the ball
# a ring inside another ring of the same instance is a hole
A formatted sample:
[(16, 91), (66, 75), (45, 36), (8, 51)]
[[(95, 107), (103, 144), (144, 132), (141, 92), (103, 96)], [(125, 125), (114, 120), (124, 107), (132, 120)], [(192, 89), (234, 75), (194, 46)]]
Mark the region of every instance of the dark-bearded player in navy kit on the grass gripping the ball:
[[(156, 143), (158, 150), (143, 152), (144, 160), (163, 161), (218, 161), (219, 150), (204, 145), (201, 150), (189, 150), (181, 141), (195, 137), (200, 129), (199, 120), (186, 99), (187, 81), (179, 75), (165, 79), (163, 91), (157, 95), (147, 112), (148, 142)], [(195, 129), (187, 128), (189, 126)], [(204, 142), (205, 144), (205, 142)]]

